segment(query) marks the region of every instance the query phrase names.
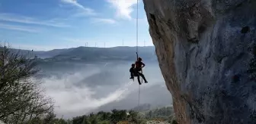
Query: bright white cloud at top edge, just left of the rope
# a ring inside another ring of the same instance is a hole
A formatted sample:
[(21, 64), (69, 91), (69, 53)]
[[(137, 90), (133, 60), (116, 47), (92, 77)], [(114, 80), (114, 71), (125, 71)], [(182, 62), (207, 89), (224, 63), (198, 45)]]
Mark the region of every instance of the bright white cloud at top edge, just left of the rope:
[(137, 0), (107, 0), (114, 8), (117, 9), (117, 16), (125, 19), (132, 19), (133, 5), (137, 4)]

